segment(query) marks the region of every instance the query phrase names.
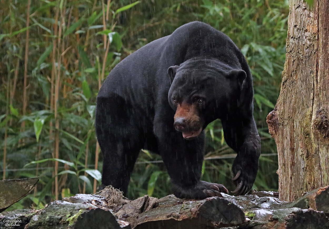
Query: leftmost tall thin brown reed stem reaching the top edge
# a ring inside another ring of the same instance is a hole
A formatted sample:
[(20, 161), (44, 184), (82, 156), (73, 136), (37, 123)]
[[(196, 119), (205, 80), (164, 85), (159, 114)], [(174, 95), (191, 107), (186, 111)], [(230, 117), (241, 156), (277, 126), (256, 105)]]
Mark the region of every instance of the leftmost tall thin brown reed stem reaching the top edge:
[[(30, 26), (30, 5), (31, 0), (27, 2), (27, 13), (26, 13), (26, 27)], [(24, 89), (23, 89), (23, 115), (26, 114), (27, 107), (27, 95), (26, 95), (26, 87), (27, 87), (27, 58), (29, 54), (29, 34), (30, 30), (26, 30), (26, 40), (25, 40), (25, 58), (24, 58)], [(25, 120), (22, 121), (21, 124), (21, 132), (25, 131)]]

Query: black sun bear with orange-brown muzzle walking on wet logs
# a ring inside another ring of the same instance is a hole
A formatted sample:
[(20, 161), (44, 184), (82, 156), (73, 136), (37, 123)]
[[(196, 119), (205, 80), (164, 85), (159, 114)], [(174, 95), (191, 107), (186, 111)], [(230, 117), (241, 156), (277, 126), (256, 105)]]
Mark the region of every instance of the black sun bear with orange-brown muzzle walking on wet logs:
[(179, 198), (221, 196), (200, 180), (204, 129), (221, 119), (236, 195), (252, 187), (260, 156), (249, 66), (233, 41), (190, 22), (143, 46), (110, 72), (97, 96), (95, 128), (103, 153), (102, 184), (127, 193), (141, 149), (160, 154)]

